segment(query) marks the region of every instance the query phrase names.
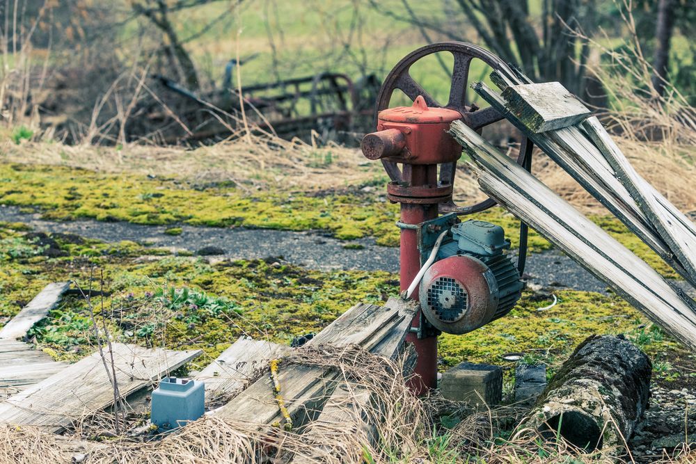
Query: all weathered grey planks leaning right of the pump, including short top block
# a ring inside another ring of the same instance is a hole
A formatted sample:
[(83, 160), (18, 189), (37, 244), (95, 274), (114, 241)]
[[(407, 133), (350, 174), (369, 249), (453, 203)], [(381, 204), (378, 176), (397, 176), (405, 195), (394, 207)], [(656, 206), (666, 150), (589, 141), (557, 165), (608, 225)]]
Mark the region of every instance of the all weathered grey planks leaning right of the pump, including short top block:
[[(513, 70), (491, 77), (502, 96), (483, 83), (474, 85), (477, 93), (696, 287), (696, 227), (633, 170), (599, 120), (557, 86), (530, 84)], [(679, 287), (466, 125), (454, 122), (450, 131), (485, 193), (696, 349), (696, 304)]]

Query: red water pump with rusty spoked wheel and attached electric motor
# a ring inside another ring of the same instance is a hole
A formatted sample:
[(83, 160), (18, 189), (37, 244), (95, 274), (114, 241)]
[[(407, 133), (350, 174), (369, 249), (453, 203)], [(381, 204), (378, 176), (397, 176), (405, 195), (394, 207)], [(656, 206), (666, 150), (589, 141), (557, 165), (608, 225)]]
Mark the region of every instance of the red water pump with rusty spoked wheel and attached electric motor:
[[(411, 75), (411, 67), (433, 54), (451, 54), (450, 92), (438, 101)], [(377, 96), (377, 131), (361, 143), (367, 159), (381, 161), (390, 182), (387, 198), (400, 204), (400, 289), (420, 300), (406, 342), (418, 354), (409, 385), (422, 394), (437, 384), (437, 335), (467, 333), (507, 314), (520, 298), (527, 226), (520, 225), (519, 257), (512, 264), (503, 229), (482, 221), (459, 222), (496, 205), (487, 198), (458, 205), (452, 198), (461, 146), (448, 133), (461, 120), (481, 133), (503, 120), (492, 107), (467, 99), (472, 61), (509, 69), (489, 51), (465, 42), (439, 42), (406, 55)], [(412, 105), (393, 106), (392, 97)], [(532, 143), (521, 137), (517, 163), (529, 170)], [(442, 216), (441, 216), (442, 215)], [(434, 254), (433, 254), (434, 252)], [(432, 255), (432, 257), (431, 257)], [(415, 283), (414, 283), (415, 282)]]

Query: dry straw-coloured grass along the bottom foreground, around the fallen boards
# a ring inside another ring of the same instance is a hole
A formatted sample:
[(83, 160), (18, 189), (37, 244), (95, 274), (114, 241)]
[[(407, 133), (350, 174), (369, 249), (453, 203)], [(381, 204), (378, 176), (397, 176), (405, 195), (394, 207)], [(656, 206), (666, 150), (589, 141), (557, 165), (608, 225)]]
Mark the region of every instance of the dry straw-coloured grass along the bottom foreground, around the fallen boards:
[[(52, 435), (30, 426), (0, 426), (0, 462), (68, 463), (568, 463), (608, 462), (599, 451), (583, 454), (567, 442), (546, 442), (535, 431), (517, 431), (495, 439), (525, 413), (508, 406), (473, 412), (464, 403), (441, 397), (416, 398), (404, 386), (402, 362), (390, 362), (358, 346), (319, 346), (296, 351), (283, 361), (331, 367), (338, 383), (351, 385), (341, 422), (329, 426), (322, 417), (286, 432), (274, 426), (210, 416), (150, 441), (113, 438), (86, 440)], [(372, 401), (358, 401), (369, 392)], [(452, 429), (440, 417), (464, 419)], [(694, 454), (679, 449), (662, 463), (692, 463)], [(626, 456), (626, 462), (631, 457)]]

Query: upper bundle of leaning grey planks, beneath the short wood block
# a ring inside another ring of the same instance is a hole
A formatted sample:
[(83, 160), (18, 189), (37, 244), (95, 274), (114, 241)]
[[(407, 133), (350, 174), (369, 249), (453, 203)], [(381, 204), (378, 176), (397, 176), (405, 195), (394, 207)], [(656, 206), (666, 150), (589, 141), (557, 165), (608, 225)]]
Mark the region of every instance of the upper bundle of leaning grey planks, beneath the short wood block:
[[(529, 79), (501, 69), (491, 79), (503, 89), (525, 87)], [(526, 84), (526, 85), (521, 85)], [(564, 168), (629, 230), (696, 286), (696, 227), (649, 185), (624, 157), (596, 118), (579, 125), (537, 133), (517, 116), (521, 100), (506, 101), (484, 83), (474, 90)]]

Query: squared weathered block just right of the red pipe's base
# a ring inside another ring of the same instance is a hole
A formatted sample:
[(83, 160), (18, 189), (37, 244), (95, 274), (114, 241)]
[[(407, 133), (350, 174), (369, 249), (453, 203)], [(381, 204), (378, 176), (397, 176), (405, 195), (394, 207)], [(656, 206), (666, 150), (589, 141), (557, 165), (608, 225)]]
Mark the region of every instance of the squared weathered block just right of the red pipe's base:
[(500, 403), (503, 397), (503, 369), (461, 362), (442, 374), (440, 391), (443, 397), (454, 401), (478, 405)]

